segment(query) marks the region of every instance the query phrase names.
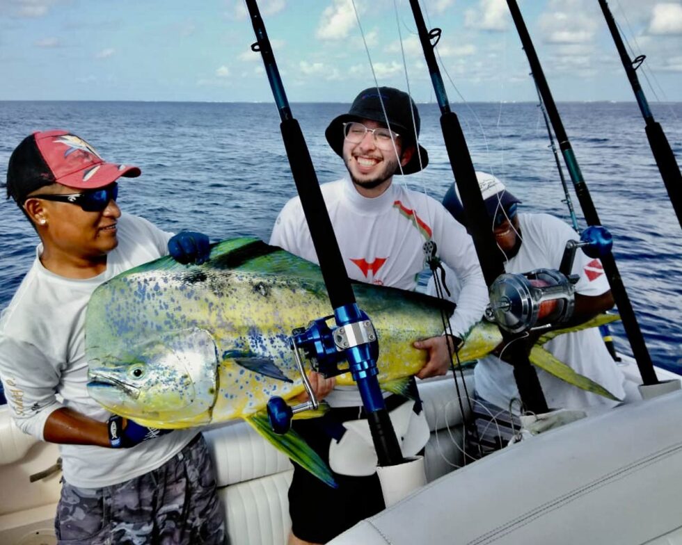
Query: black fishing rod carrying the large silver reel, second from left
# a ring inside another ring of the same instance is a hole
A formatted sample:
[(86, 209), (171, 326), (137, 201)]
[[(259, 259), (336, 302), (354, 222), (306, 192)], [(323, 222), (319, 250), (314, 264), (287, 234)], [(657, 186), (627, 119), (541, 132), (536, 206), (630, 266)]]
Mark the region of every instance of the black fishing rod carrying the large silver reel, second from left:
[[(422, 44), (429, 74), (431, 74), (431, 83), (434, 86), (436, 100), (441, 108), (443, 140), (445, 140), (445, 149), (447, 149), (447, 156), (450, 159), (452, 174), (459, 188), (467, 226), (473, 238), (486, 284), (491, 286), (495, 279), (505, 274), (505, 265), (500, 256), (497, 243), (495, 243), (495, 236), (490, 228), (490, 223), (486, 221), (488, 211), (486, 210), (483, 195), (478, 185), (476, 172), (461, 124), (457, 114), (450, 109), (450, 101), (447, 99), (441, 70), (438, 68), (438, 63), (436, 63), (434, 47), (436, 47), (438, 40), (441, 38), (441, 29), (427, 31), (419, 1), (410, 0), (410, 6), (417, 25), (419, 40)], [(431, 43), (431, 40), (434, 40), (434, 42)], [(517, 336), (510, 336), (504, 330), (500, 329), (500, 331), (505, 341), (509, 342), (518, 339)], [(525, 351), (523, 343), (511, 342), (507, 347), (505, 352), (509, 355), (509, 360), (514, 361), (514, 364), (512, 364), (514, 366), (514, 379), (516, 380), (519, 396), (521, 396), (526, 409), (536, 414), (548, 412), (547, 402), (542, 393), (540, 381), (537, 378), (535, 368), (530, 364), (528, 352)]]

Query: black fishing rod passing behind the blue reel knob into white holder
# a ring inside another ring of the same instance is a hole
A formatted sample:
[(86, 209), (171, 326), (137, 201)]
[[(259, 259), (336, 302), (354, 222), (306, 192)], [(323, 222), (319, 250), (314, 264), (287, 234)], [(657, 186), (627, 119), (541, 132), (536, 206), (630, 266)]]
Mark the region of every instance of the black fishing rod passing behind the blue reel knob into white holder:
[[(576, 159), (576, 155), (573, 153), (573, 148), (569, 142), (569, 137), (566, 135), (564, 124), (562, 123), (559, 111), (557, 111), (557, 106), (552, 97), (552, 93), (550, 92), (544, 72), (542, 71), (539, 58), (537, 57), (535, 48), (533, 47), (533, 43), (530, 39), (530, 34), (528, 33), (528, 29), (526, 29), (525, 22), (523, 22), (521, 11), (518, 9), (516, 0), (507, 0), (507, 5), (509, 6), (509, 10), (512, 13), (512, 19), (514, 19), (514, 24), (516, 25), (516, 30), (518, 31), (518, 35), (521, 38), (521, 43), (523, 44), (525, 54), (528, 56), (530, 70), (533, 73), (535, 83), (540, 91), (547, 114), (549, 115), (550, 121), (552, 122), (554, 133), (557, 136), (557, 140), (559, 141), (559, 148), (561, 149), (562, 155), (564, 156), (566, 168), (569, 171), (571, 181), (573, 181), (573, 187), (576, 190), (576, 195), (578, 195), (578, 202), (580, 202), (580, 207), (582, 208), (582, 215), (585, 216), (587, 225), (601, 225), (596, 208), (592, 202), (592, 197), (589, 194), (589, 190), (587, 189), (587, 184), (585, 184), (585, 179), (583, 179), (582, 172), (580, 172), (578, 160)], [(611, 293), (617, 304), (618, 311), (623, 322), (623, 327), (633, 350), (633, 355), (637, 361), (637, 367), (640, 369), (642, 382), (647, 385), (658, 384), (656, 371), (653, 369), (653, 363), (651, 362), (651, 357), (649, 356), (649, 350), (647, 350), (647, 345), (644, 343), (644, 337), (642, 336), (640, 325), (637, 323), (635, 311), (633, 310), (630, 299), (628, 298), (628, 294), (625, 291), (625, 286), (623, 285), (620, 273), (618, 272), (616, 260), (614, 259), (613, 254), (609, 252), (605, 256), (601, 257), (601, 264), (603, 265), (604, 273), (606, 274), (611, 287)]]

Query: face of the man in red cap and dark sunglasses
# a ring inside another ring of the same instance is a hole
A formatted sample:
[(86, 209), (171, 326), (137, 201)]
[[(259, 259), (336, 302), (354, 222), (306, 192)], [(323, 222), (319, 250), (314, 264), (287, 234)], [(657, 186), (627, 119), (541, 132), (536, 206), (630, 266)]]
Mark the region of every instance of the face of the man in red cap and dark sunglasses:
[[(69, 195), (82, 190), (53, 184), (38, 195)], [(106, 268), (106, 254), (118, 245), (116, 222), (121, 211), (113, 199), (102, 211), (88, 212), (70, 202), (29, 198), (24, 209), (35, 223), (44, 250), (40, 260), (65, 277), (88, 277)]]

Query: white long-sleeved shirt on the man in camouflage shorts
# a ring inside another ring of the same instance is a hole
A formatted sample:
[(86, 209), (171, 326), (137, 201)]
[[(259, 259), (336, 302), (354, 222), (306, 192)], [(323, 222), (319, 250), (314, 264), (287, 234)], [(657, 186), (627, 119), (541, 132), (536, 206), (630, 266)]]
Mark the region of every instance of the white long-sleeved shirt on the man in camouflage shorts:
[[(111, 413), (88, 396), (85, 357), (86, 305), (95, 288), (129, 268), (168, 254), (172, 234), (133, 215), (118, 220), (118, 246), (97, 277), (70, 279), (33, 266), (0, 314), (0, 377), (12, 416), (21, 430), (43, 440), (47, 417), (69, 407), (106, 421)], [(197, 430), (175, 431), (133, 448), (60, 445), (64, 479), (99, 488), (143, 475), (175, 456)]]

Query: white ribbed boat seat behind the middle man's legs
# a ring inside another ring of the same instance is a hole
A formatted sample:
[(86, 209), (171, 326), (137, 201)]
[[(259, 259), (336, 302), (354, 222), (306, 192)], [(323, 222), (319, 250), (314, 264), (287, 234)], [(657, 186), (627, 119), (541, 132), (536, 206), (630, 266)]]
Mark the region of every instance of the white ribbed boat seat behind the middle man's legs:
[[(466, 382), (471, 395), (473, 375)], [(452, 376), (420, 381), (418, 387), (431, 430), (425, 448), (427, 480), (434, 480), (462, 463), (462, 415)], [(214, 460), (230, 544), (285, 544), (291, 528), (289, 459), (245, 422), (212, 428), (204, 435)]]

